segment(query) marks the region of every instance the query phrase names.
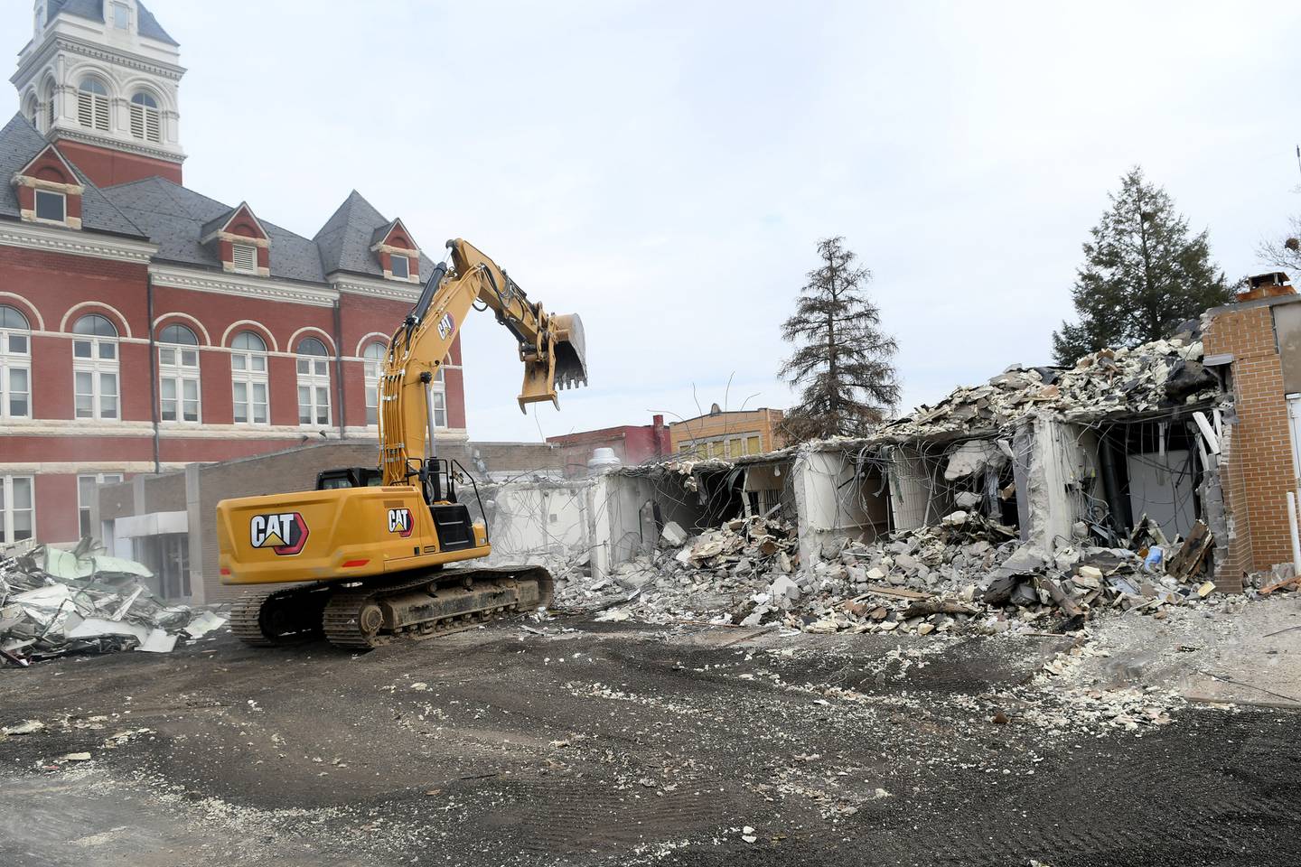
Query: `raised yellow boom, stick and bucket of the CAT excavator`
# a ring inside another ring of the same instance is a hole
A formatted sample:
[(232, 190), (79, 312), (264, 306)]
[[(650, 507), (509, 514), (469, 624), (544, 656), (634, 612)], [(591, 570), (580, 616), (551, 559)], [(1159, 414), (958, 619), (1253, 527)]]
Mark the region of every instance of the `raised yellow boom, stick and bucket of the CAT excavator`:
[[(524, 382), (519, 408), (558, 406), (557, 386), (587, 383), (583, 322), (548, 313), (492, 259), (457, 238), (451, 265), (440, 264), (389, 341), (380, 381), (380, 469), (385, 485), (405, 485), (433, 456), (433, 381), (471, 309), (490, 309), (519, 346)], [(479, 307), (481, 305), (481, 307)], [(412, 464), (415, 461), (415, 464)]]

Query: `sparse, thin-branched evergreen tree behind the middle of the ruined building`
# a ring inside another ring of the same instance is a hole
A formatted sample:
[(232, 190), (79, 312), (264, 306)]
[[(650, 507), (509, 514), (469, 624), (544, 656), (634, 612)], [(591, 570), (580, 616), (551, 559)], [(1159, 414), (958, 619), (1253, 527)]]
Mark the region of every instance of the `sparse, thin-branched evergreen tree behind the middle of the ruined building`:
[(881, 311), (865, 294), (872, 273), (853, 266), (844, 238), (818, 242), (817, 252), (822, 264), (782, 324), (782, 338), (796, 348), (781, 376), (803, 387), (783, 421), (794, 441), (864, 434), (899, 402), (898, 346), (879, 330)]

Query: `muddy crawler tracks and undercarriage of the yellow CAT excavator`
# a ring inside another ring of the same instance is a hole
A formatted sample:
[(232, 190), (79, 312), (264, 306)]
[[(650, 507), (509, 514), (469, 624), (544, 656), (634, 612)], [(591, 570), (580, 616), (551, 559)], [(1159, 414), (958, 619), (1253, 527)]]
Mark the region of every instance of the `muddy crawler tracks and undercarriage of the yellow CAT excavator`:
[(336, 647), (369, 650), (549, 606), (553, 591), (552, 575), (535, 565), (440, 569), (369, 584), (316, 582), (239, 598), (230, 630), (255, 647), (324, 633)]

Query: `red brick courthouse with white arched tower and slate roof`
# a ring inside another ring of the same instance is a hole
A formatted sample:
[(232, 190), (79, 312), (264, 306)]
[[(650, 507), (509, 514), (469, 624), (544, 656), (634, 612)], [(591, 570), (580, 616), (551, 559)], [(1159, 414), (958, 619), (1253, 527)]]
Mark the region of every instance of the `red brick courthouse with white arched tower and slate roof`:
[[(0, 543), (95, 534), (96, 485), (376, 435), (433, 263), (358, 192), (312, 237), (182, 185), (176, 42), (137, 0), (39, 0), (0, 130)], [(440, 422), (466, 439), (459, 343)]]

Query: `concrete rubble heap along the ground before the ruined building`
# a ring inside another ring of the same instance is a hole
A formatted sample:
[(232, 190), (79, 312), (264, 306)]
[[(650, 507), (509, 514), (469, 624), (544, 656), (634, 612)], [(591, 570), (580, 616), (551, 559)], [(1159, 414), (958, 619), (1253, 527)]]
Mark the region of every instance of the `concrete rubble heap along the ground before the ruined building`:
[(1201, 524), (1168, 571), (1162, 546), (1175, 546), (1146, 521), (1129, 547), (1094, 546), (1080, 530), (1076, 545), (1047, 555), (1023, 545), (1012, 528), (956, 511), (935, 526), (872, 543), (826, 543), (801, 568), (788, 524), (736, 519), (690, 541), (670, 524), (665, 547), (609, 577), (593, 581), (576, 565), (557, 569), (556, 606), (602, 612), (604, 620), (925, 636), (1072, 632), (1107, 608), (1163, 619), (1164, 607), (1214, 589), (1200, 577), (1209, 549)]

